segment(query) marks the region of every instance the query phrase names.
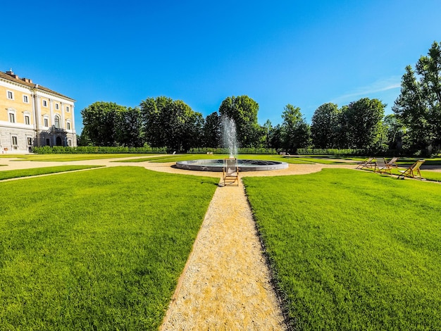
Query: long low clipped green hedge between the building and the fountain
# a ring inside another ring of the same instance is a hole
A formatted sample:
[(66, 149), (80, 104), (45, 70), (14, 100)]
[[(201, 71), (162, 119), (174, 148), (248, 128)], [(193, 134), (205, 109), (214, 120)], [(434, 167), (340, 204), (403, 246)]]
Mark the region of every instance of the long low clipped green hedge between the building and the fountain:
[(166, 147), (104, 147), (104, 146), (44, 146), (32, 149), (37, 154), (113, 154), (113, 153), (166, 153)]

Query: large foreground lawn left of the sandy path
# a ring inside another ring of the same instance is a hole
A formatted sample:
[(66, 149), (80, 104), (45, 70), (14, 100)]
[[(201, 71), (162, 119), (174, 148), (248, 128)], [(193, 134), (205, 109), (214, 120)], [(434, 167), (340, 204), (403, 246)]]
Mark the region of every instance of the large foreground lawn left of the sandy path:
[(140, 167), (0, 182), (0, 330), (157, 330), (217, 183)]

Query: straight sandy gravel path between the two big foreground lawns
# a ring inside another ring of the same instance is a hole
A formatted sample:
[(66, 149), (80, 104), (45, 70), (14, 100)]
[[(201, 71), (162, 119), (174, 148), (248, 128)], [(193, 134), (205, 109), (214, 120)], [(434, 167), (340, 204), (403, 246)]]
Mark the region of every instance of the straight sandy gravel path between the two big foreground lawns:
[(286, 330), (242, 183), (216, 189), (161, 330)]

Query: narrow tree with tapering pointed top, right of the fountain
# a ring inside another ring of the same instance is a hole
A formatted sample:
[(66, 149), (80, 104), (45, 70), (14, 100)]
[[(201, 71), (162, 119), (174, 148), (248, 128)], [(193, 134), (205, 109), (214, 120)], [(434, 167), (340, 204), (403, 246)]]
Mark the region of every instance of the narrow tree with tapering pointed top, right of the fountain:
[(282, 113), (282, 119), (282, 144), (285, 150), (295, 154), (297, 149), (307, 147), (310, 129), (302, 117), (300, 108), (287, 104)]

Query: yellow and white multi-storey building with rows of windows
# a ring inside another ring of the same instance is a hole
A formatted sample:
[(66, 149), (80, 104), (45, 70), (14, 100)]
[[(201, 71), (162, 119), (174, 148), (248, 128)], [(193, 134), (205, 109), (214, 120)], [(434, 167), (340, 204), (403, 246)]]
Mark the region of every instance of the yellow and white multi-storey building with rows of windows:
[(12, 70), (0, 71), (0, 153), (33, 146), (77, 146), (75, 100)]

